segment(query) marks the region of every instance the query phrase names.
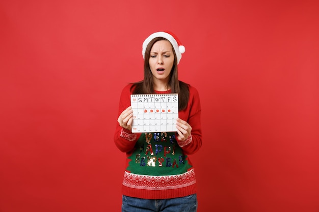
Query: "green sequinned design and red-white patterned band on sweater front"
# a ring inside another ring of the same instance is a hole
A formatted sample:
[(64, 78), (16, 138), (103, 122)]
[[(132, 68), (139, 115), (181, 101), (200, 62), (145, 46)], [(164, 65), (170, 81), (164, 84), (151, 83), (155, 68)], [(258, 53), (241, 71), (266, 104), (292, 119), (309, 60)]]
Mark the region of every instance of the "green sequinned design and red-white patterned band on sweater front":
[(196, 183), (194, 170), (173, 132), (141, 134), (128, 159), (124, 186), (164, 190)]

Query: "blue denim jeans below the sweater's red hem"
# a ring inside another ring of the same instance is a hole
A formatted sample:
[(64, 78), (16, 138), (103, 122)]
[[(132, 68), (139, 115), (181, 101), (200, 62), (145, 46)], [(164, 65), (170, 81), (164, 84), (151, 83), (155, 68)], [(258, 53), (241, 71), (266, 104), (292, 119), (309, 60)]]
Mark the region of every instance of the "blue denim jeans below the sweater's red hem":
[(196, 212), (196, 194), (173, 199), (122, 197), (122, 212)]

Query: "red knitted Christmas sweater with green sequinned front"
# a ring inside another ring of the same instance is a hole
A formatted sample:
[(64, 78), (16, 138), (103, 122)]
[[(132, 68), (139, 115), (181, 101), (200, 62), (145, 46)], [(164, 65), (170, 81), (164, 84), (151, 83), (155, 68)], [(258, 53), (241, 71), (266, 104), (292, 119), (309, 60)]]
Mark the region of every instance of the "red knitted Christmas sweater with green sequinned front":
[[(119, 113), (130, 106), (130, 87), (126, 85), (120, 97)], [(196, 193), (196, 179), (188, 157), (201, 147), (201, 106), (199, 95), (189, 85), (190, 99), (178, 117), (192, 127), (189, 138), (177, 139), (177, 132), (132, 133), (117, 123), (114, 141), (126, 153), (126, 170), (122, 185), (125, 196), (142, 199), (168, 199)], [(169, 94), (156, 92), (156, 94)]]

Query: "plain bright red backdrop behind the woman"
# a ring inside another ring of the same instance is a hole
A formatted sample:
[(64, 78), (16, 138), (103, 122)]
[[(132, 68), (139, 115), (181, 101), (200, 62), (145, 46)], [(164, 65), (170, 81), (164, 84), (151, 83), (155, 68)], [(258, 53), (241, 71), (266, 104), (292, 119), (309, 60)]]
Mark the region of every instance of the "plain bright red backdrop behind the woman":
[(120, 211), (119, 95), (163, 30), (201, 95), (198, 211), (319, 211), (318, 5), (2, 1), (0, 211)]

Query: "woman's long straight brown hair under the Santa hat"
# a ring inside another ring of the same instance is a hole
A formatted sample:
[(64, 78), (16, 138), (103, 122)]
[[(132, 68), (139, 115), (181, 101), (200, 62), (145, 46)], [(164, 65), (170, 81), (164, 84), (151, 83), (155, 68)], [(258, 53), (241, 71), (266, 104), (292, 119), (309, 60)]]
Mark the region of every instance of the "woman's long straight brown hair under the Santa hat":
[[(153, 85), (153, 75), (149, 67), (149, 57), (151, 48), (154, 43), (157, 41), (167, 40), (163, 37), (157, 37), (151, 40), (145, 50), (145, 59), (144, 59), (144, 80), (135, 82), (131, 86), (133, 94), (154, 94), (154, 85)], [(167, 40), (168, 41), (168, 40)], [(190, 90), (188, 84), (178, 80), (178, 71), (177, 71), (177, 57), (175, 50), (172, 46), (174, 53), (174, 65), (170, 73), (169, 84), (171, 86), (172, 93), (178, 94), (178, 110), (183, 110), (187, 108), (187, 104), (190, 98)]]

